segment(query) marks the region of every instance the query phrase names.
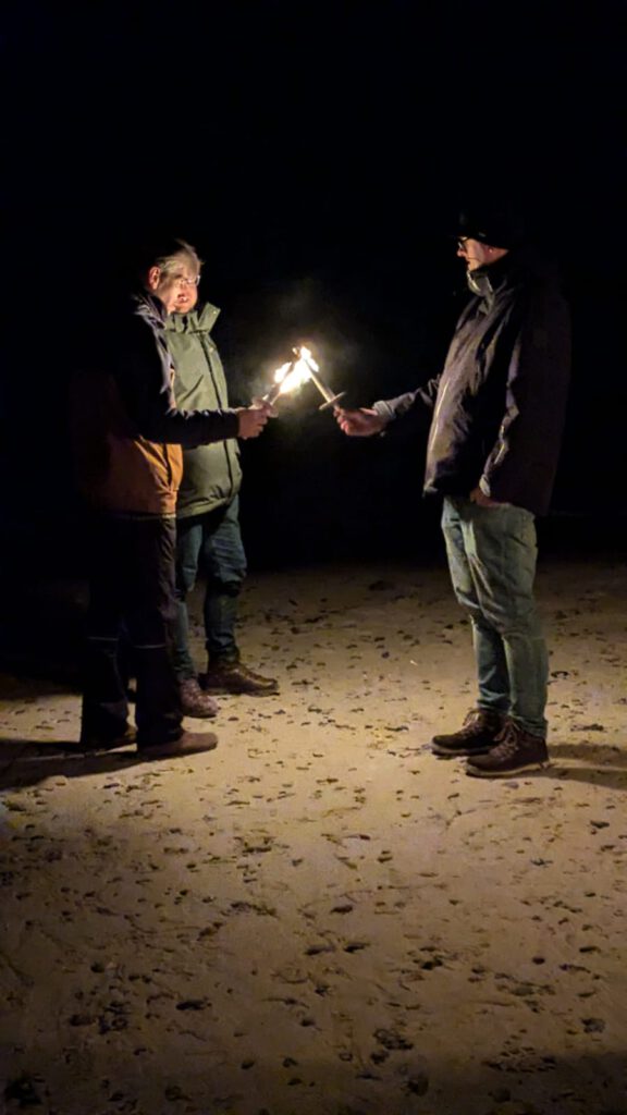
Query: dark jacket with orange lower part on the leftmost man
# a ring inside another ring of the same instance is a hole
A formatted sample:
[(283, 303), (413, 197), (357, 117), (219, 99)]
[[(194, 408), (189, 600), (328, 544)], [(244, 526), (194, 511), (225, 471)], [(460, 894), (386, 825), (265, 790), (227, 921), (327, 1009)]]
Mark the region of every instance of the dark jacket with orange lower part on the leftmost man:
[(164, 311), (148, 294), (108, 321), (103, 351), (71, 391), (78, 483), (94, 506), (173, 515), (183, 468), (181, 446), (234, 437), (229, 410), (176, 408), (164, 339)]

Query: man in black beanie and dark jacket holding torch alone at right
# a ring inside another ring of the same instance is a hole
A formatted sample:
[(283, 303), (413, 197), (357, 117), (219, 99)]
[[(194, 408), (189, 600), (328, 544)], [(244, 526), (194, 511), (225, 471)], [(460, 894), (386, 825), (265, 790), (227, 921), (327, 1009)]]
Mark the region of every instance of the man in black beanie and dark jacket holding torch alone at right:
[(444, 369), (372, 409), (337, 410), (368, 436), (394, 423), (430, 428), (425, 484), (444, 497), (451, 579), (472, 624), (479, 697), (433, 752), (466, 773), (503, 777), (548, 763), (547, 648), (533, 598), (534, 516), (548, 510), (570, 366), (569, 314), (556, 278), (511, 212), (465, 214), (457, 255), (474, 295)]

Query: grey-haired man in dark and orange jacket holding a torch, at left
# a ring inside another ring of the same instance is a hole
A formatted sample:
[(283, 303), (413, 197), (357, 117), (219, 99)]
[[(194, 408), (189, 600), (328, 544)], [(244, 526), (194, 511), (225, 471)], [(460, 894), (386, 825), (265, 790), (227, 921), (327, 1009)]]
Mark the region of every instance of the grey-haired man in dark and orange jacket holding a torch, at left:
[(139, 289), (107, 322), (102, 350), (73, 391), (79, 485), (93, 510), (80, 741), (91, 750), (133, 738), (118, 665), (124, 631), (137, 677), (137, 749), (154, 759), (216, 744), (212, 733), (183, 730), (174, 669), (182, 446), (257, 437), (270, 408), (176, 407), (164, 326), (180, 292), (195, 289), (197, 256), (184, 241), (168, 241), (149, 251), (139, 274)]

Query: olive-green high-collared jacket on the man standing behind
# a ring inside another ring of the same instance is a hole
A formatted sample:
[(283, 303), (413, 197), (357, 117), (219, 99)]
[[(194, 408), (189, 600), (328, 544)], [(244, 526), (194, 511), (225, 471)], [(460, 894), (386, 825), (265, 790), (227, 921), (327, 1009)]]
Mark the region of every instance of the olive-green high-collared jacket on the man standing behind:
[[(165, 322), (165, 340), (174, 361), (176, 405), (186, 410), (228, 407), (224, 369), (211, 330), (220, 310), (206, 304), (191, 313), (173, 313)], [(240, 491), (242, 471), (238, 442), (230, 438), (183, 453), (183, 479), (176, 515), (189, 518), (230, 503)]]

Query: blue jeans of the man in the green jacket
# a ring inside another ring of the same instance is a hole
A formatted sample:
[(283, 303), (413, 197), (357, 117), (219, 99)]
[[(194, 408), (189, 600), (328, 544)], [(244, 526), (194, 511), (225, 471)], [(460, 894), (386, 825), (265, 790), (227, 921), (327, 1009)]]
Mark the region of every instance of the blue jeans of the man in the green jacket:
[(206, 575), (204, 630), (208, 653), (214, 661), (237, 661), (238, 597), (247, 574), (240, 533), (239, 498), (206, 515), (180, 518), (176, 524), (176, 623), (174, 668), (180, 681), (196, 677), (190, 653), (190, 621), (185, 598), (199, 570)]

